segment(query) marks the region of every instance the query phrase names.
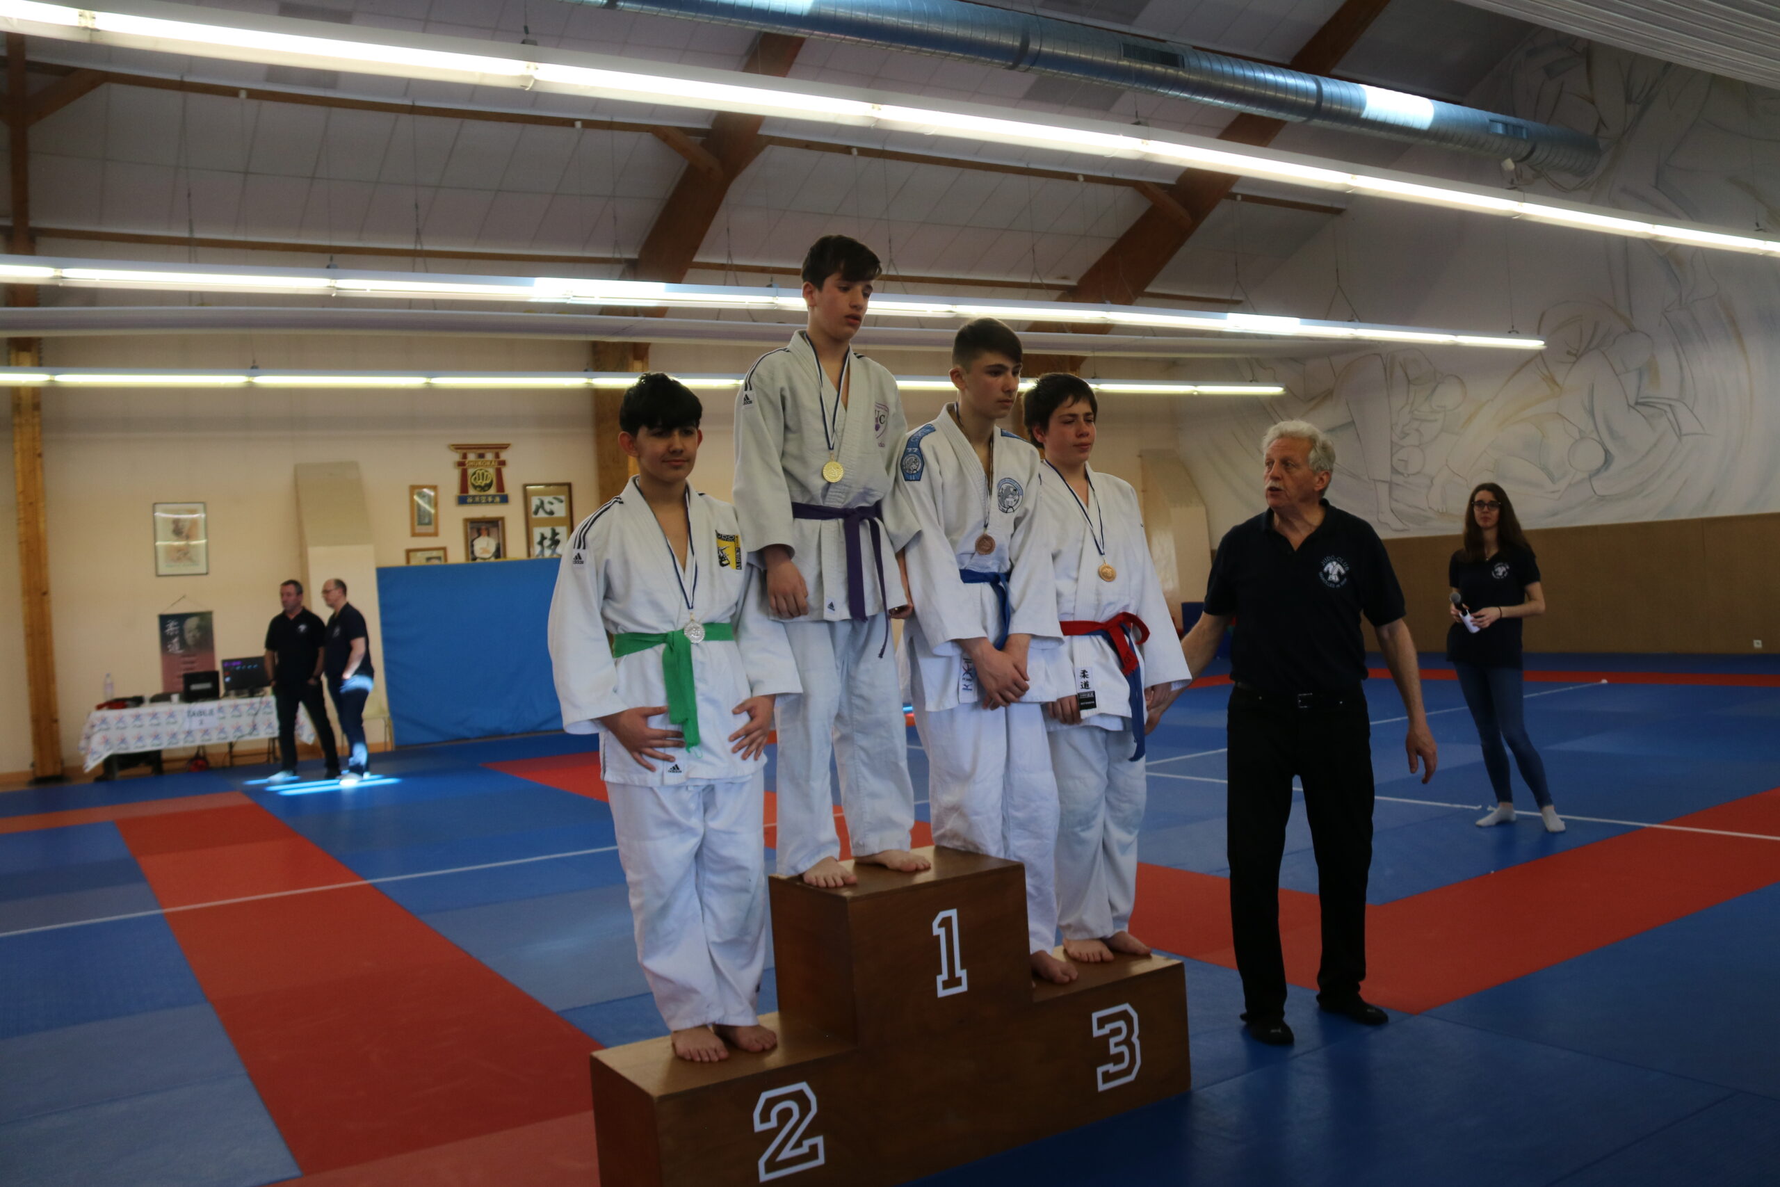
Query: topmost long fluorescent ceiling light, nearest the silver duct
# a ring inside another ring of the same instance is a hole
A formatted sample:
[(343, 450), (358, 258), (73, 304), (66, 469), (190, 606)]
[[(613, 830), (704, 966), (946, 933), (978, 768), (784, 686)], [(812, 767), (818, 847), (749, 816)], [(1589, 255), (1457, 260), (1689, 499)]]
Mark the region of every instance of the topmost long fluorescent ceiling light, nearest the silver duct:
[[(221, 12), (148, 0), (112, 0), (107, 11), (87, 11), (30, 0), (0, 0), (0, 20), (18, 32), (187, 57), (335, 68), (397, 78), (434, 78), (470, 85), (555, 91), (627, 103), (746, 112), (796, 121), (838, 123), (943, 135), (999, 146), (1020, 144), (1093, 157), (1153, 160), (1212, 169), (1248, 178), (1314, 189), (1372, 194), (1476, 214), (1492, 214), (1606, 235), (1780, 256), (1780, 240), (1737, 235), (1725, 228), (1625, 217), (1625, 212), (1563, 199), (1529, 199), (1463, 182), (1445, 182), (1396, 171), (1353, 169), (1344, 162), (1299, 157), (1278, 149), (1232, 149), (1228, 142), (1178, 132), (1132, 135), (1109, 121), (1050, 116), (977, 103), (886, 94), (856, 87), (829, 87), (796, 80), (764, 80), (739, 71), (635, 62), (568, 50), (529, 48), (527, 57), (490, 53), (493, 43), (436, 34), (352, 28), (247, 12)], [(226, 23), (219, 23), (226, 21)], [(1383, 98), (1380, 100), (1385, 101)], [(1396, 103), (1397, 100), (1390, 100)], [(1371, 103), (1371, 100), (1369, 100)], [(1392, 109), (1413, 126), (1422, 112), (1413, 103)]]

